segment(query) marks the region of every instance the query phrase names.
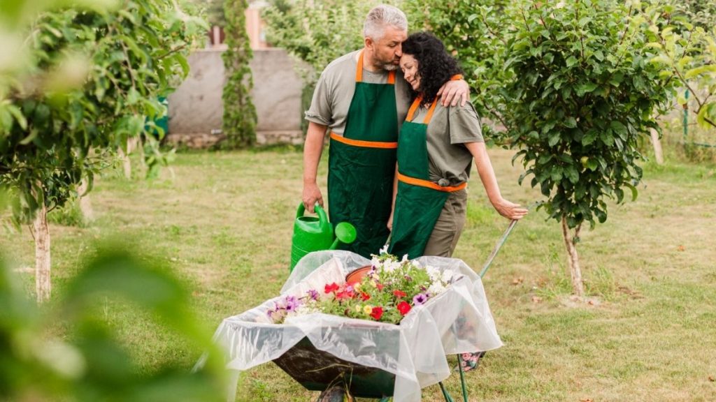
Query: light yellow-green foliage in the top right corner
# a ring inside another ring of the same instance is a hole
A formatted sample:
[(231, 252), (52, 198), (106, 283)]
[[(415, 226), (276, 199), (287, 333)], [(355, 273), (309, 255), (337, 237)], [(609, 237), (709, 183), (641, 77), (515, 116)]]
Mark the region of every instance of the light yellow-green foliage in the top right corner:
[[(712, 5), (716, 18), (716, 5)], [(664, 77), (679, 82), (677, 102), (687, 104), (686, 91), (696, 104), (692, 112), (705, 128), (716, 128), (716, 28), (692, 24), (678, 7), (656, 4), (644, 18), (649, 23), (649, 46), (657, 55), (652, 62)]]

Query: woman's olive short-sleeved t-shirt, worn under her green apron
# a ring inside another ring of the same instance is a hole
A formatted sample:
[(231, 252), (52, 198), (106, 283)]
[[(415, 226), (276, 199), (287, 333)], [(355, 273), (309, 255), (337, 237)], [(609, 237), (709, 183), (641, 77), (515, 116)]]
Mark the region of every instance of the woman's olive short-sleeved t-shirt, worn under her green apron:
[[(418, 107), (412, 122), (425, 121), (427, 110), (427, 107)], [(442, 107), (438, 103), (430, 124), (427, 124), (430, 181), (448, 186), (468, 181), (473, 155), (465, 143), (484, 141), (480, 118), (473, 104)]]

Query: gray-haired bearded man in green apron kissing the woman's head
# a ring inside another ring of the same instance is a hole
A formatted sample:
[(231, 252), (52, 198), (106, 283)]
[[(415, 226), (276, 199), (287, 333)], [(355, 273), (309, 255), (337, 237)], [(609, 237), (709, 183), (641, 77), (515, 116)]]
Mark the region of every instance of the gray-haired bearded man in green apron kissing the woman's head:
[[(397, 135), (405, 120), (410, 91), (400, 72), (407, 18), (394, 6), (371, 9), (363, 28), (363, 49), (331, 62), (321, 73), (306, 111), (309, 120), (304, 144), (306, 210), (324, 200), (316, 184), (324, 137), (330, 129), (328, 200), (333, 225), (350, 222), (357, 239), (347, 248), (370, 258), (389, 235)], [(449, 82), (442, 102), (462, 104), (468, 84)]]

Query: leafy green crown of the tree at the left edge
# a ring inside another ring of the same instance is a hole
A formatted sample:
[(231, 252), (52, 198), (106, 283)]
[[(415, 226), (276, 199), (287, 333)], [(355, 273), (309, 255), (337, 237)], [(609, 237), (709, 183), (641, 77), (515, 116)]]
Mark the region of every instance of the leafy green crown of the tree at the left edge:
[(43, 203), (64, 205), (82, 177), (91, 187), (130, 137), (144, 136), (158, 155), (159, 139), (148, 135), (164, 134), (153, 123), (166, 113), (158, 97), (188, 73), (189, 46), (205, 31), (185, 11), (175, 1), (125, 0), (33, 21), (25, 73), (0, 99), (0, 185), (16, 192), (17, 223)]

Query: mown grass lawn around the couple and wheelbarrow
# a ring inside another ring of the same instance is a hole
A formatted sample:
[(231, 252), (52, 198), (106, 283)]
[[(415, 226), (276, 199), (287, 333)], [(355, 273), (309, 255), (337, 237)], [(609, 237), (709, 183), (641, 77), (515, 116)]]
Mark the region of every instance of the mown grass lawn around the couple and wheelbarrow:
[[(491, 149), (503, 195), (528, 204), (511, 152)], [(115, 172), (97, 180), (89, 227), (52, 225), (54, 297), (97, 239), (163, 260), (188, 283), (213, 331), (223, 317), (276, 295), (288, 275), (301, 200), (301, 153), (188, 152), (154, 181)], [(325, 189), (326, 162), (321, 163)], [(479, 271), (508, 221), (489, 205), (477, 175), (456, 258)], [(52, 212), (58, 214), (60, 212)], [(716, 169), (647, 163), (639, 197), (609, 205), (609, 220), (583, 230), (581, 265), (593, 305), (569, 299), (566, 252), (543, 212), (518, 223), (487, 275), (485, 290), (503, 348), (468, 373), (471, 401), (716, 401)], [(29, 231), (4, 232), (0, 248), (34, 289)], [(29, 271), (29, 272), (28, 272)], [(98, 300), (142, 371), (200, 354), (131, 305)], [(453, 359), (454, 363), (454, 359)], [(455, 374), (446, 385), (460, 395)], [(311, 401), (279, 368), (246, 373), (238, 401)], [(439, 388), (423, 393), (440, 401)]]

